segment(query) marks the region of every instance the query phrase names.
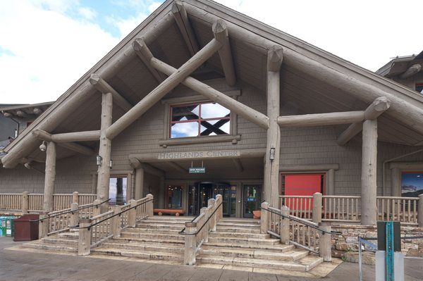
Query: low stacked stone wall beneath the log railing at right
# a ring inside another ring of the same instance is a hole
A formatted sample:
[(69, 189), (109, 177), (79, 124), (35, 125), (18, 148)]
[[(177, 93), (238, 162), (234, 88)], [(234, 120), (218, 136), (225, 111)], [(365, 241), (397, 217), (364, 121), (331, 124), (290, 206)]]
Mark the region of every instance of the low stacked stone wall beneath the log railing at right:
[[(345, 261), (358, 261), (358, 237), (377, 237), (377, 227), (372, 225), (340, 225), (332, 224), (332, 230), (341, 235), (332, 235), (332, 256)], [(401, 226), (401, 237), (422, 237), (423, 227)], [(377, 244), (376, 240), (370, 241)], [(362, 246), (363, 263), (374, 264), (374, 254)], [(423, 257), (423, 239), (402, 239), (401, 251), (405, 256)]]

